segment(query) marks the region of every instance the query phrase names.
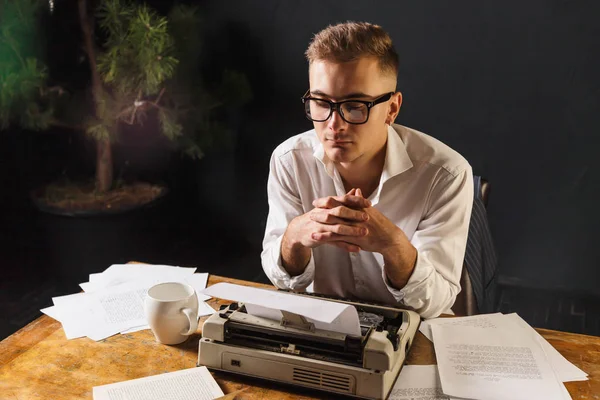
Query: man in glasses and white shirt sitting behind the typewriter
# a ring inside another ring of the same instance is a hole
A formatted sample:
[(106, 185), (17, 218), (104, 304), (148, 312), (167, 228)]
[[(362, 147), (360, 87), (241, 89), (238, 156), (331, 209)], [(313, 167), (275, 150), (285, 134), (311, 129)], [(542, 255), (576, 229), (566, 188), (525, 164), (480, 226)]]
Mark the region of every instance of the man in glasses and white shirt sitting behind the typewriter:
[(263, 269), (280, 288), (450, 312), (473, 202), (468, 162), (395, 125), (398, 56), (377, 25), (344, 23), (306, 52), (314, 129), (273, 152)]

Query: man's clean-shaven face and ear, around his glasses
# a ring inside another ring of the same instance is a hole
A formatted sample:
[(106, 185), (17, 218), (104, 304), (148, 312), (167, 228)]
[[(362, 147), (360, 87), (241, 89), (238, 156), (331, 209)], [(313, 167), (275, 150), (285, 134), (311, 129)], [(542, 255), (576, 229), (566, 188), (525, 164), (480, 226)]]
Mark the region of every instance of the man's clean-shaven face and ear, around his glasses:
[[(309, 68), (310, 97), (329, 101), (372, 101), (394, 92), (396, 79), (381, 72), (377, 59), (363, 57), (356, 61), (334, 63), (314, 61)], [(386, 122), (392, 123), (400, 108), (401, 96), (371, 108), (365, 124), (344, 121), (337, 111), (324, 122), (313, 122), (327, 157), (333, 162), (351, 163), (370, 160), (387, 140)]]

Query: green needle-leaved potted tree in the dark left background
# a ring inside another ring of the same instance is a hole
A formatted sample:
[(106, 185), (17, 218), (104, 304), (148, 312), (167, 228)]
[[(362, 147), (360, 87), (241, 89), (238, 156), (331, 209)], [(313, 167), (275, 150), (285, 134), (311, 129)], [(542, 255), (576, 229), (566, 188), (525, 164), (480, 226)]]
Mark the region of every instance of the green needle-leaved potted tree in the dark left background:
[[(224, 72), (219, 85), (204, 84), (199, 52), (192, 47), (201, 35), (196, 9), (176, 6), (162, 16), (144, 3), (98, 4), (91, 10), (87, 0), (78, 0), (91, 81), (78, 97), (51, 85), (36, 51), (39, 18), (45, 14), (52, 23), (48, 3), (0, 0), (0, 127), (68, 126), (95, 146), (93, 183), (54, 182), (32, 197), (45, 213), (45, 229), (52, 231), (46, 237), (55, 239), (49, 248), (56, 264), (73, 279), (141, 254), (135, 251), (143, 244), (131, 243), (147, 228), (149, 218), (141, 210), (168, 192), (163, 185), (115, 180), (113, 146), (120, 134), (158, 129), (174, 149), (199, 159), (227, 137), (219, 113), (250, 96), (245, 77), (236, 72)], [(81, 98), (89, 107), (81, 107)]]

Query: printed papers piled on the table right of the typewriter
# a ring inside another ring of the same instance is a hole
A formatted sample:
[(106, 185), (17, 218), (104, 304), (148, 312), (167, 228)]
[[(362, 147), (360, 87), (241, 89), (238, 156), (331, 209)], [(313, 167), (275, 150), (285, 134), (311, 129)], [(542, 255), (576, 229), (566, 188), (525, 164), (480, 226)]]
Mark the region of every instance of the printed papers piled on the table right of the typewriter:
[(438, 365), (404, 367), (390, 399), (564, 400), (571, 397), (562, 382), (587, 380), (517, 314), (438, 318), (419, 330)]

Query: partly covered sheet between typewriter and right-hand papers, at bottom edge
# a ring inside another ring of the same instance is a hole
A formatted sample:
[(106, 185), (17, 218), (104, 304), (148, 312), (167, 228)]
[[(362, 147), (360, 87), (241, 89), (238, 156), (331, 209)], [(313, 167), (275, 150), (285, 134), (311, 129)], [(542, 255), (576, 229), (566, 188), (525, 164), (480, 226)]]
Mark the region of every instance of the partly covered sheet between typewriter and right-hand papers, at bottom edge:
[(451, 400), (442, 393), (437, 365), (405, 365), (388, 400)]

